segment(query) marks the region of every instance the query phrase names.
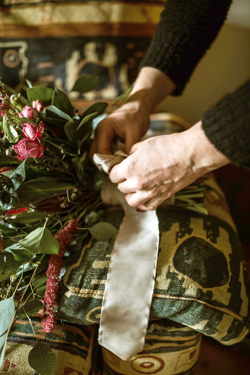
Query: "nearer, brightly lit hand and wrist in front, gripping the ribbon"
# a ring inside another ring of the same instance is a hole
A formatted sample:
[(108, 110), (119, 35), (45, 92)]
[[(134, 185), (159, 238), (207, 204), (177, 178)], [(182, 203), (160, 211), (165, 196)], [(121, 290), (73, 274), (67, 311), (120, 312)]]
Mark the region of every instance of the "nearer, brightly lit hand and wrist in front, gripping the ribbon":
[(160, 135), (133, 145), (109, 173), (132, 207), (153, 210), (204, 173), (228, 164), (209, 141), (201, 121), (182, 133)]

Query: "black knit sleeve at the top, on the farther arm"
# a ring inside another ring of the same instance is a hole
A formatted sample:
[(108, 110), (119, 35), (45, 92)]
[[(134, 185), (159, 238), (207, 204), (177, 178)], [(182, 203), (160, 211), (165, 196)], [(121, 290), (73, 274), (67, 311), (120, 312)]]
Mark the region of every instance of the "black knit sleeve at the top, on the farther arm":
[(166, 0), (160, 22), (140, 68), (165, 73), (180, 95), (195, 66), (222, 26), (231, 0)]

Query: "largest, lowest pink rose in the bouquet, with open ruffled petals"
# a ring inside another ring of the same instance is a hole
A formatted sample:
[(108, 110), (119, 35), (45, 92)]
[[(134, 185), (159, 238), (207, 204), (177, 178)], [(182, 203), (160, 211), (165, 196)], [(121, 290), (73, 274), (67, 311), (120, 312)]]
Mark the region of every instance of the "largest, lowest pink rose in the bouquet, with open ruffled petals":
[(28, 156), (40, 159), (43, 155), (44, 147), (39, 138), (34, 138), (20, 139), (17, 144), (13, 145), (13, 149), (17, 153), (16, 159), (25, 160)]

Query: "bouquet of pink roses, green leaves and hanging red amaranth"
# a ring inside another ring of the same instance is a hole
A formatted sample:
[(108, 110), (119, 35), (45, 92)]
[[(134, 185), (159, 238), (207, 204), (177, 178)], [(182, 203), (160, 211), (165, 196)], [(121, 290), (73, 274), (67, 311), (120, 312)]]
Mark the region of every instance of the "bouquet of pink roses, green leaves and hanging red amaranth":
[[(65, 259), (89, 234), (97, 240), (117, 234), (100, 221), (105, 180), (88, 159), (92, 120), (108, 104), (96, 102), (79, 114), (61, 90), (26, 82), (22, 96), (0, 80), (0, 366), (17, 318), (40, 312), (45, 332), (54, 328)], [(83, 75), (72, 90), (88, 92), (96, 83), (97, 77)], [(196, 181), (176, 195), (175, 204), (204, 213), (203, 190)], [(39, 374), (44, 371), (32, 351), (52, 374), (52, 351), (38, 340), (31, 350), (28, 360)]]

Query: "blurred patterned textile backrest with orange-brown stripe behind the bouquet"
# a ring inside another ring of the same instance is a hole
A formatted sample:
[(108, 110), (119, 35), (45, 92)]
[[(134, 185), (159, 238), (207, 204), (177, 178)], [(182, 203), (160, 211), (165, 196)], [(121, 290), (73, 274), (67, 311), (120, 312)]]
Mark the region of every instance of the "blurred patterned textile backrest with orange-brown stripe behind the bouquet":
[(67, 91), (79, 75), (90, 74), (99, 81), (83, 98), (113, 100), (135, 80), (164, 0), (0, 3), (0, 77), (6, 84), (19, 91), (27, 78), (34, 86)]

